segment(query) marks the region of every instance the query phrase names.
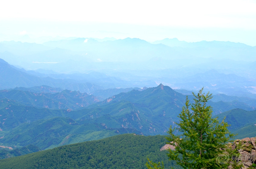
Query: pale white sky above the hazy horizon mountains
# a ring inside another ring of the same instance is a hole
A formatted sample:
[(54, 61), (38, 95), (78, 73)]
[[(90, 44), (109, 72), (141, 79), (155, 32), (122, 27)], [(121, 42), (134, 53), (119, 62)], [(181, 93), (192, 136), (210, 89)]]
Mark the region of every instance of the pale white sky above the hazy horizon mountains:
[(0, 41), (41, 36), (178, 38), (256, 46), (256, 0), (8, 0)]

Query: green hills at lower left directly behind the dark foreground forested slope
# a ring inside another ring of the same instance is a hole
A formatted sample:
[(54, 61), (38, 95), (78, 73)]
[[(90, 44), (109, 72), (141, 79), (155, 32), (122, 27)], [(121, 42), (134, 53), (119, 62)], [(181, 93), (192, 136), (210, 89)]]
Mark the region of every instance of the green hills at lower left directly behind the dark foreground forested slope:
[(133, 132), (140, 133), (130, 128), (106, 128), (100, 123), (81, 124), (71, 118), (54, 117), (21, 124), (6, 134), (1, 142), (13, 148), (33, 144), (41, 149), (49, 149)]

